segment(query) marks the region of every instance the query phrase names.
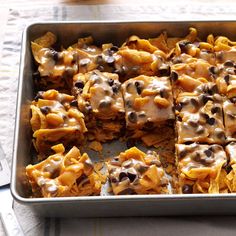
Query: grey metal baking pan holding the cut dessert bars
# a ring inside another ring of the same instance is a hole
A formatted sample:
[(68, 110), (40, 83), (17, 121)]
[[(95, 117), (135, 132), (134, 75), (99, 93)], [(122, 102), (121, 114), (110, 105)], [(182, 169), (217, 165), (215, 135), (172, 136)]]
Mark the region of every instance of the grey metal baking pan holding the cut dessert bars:
[(68, 46), (79, 37), (92, 35), (97, 43), (120, 45), (130, 35), (155, 37), (163, 30), (170, 36), (185, 36), (196, 27), (200, 38), (208, 34), (225, 35), (236, 40), (236, 21), (205, 22), (50, 22), (28, 26), (23, 34), (17, 115), (14, 137), (11, 191), (18, 202), (37, 214), (54, 217), (107, 217), (153, 215), (235, 214), (236, 194), (84, 196), (70, 198), (30, 198), (25, 167), (31, 162), (30, 102), (34, 97), (34, 71), (30, 42), (47, 31)]

